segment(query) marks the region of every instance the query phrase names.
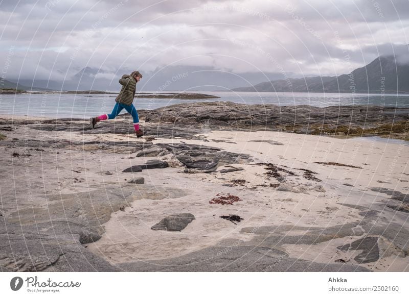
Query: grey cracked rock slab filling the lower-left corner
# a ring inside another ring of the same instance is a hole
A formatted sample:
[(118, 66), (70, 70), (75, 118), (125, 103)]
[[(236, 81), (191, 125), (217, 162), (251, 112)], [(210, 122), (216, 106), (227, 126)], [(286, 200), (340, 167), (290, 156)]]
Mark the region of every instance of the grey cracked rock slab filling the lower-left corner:
[[(79, 242), (99, 234), (69, 221), (20, 226), (0, 220), (0, 271), (119, 271)], [(81, 240), (81, 239), (80, 239)]]

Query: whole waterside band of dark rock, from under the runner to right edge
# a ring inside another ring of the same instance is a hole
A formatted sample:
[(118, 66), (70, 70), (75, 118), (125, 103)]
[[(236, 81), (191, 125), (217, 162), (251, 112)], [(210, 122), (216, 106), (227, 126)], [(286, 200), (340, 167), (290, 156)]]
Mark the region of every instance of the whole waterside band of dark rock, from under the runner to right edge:
[[(211, 130), (267, 130), (313, 135), (388, 135), (409, 139), (409, 109), (384, 106), (245, 105), (232, 102), (188, 103), (140, 110), (149, 122), (146, 137), (200, 139)], [(130, 118), (123, 115), (123, 118)], [(34, 129), (84, 134), (133, 134), (127, 122), (99, 122), (90, 129), (79, 120), (47, 120)], [(29, 121), (27, 121), (29, 123)], [(1, 125), (1, 122), (0, 122)], [(206, 141), (206, 140), (205, 140)], [(271, 143), (280, 145), (279, 143)]]

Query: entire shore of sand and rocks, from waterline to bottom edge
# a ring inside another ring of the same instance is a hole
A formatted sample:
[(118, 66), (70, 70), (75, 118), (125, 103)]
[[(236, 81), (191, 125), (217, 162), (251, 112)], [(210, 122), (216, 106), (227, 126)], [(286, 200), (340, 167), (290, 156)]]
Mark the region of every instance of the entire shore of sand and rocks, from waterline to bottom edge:
[(407, 145), (345, 139), (407, 114), (181, 104), (143, 138), (0, 116), (0, 271), (409, 271)]

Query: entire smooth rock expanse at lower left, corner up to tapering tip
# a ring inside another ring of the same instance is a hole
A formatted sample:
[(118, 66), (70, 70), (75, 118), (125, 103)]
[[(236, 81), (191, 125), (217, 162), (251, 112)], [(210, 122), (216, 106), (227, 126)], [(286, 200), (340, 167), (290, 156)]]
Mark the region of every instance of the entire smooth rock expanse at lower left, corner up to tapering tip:
[(134, 200), (185, 195), (177, 188), (105, 184), (86, 192), (49, 194), (44, 197), (47, 208), (28, 205), (2, 213), (0, 271), (118, 271), (82, 244), (100, 239), (111, 213)]

